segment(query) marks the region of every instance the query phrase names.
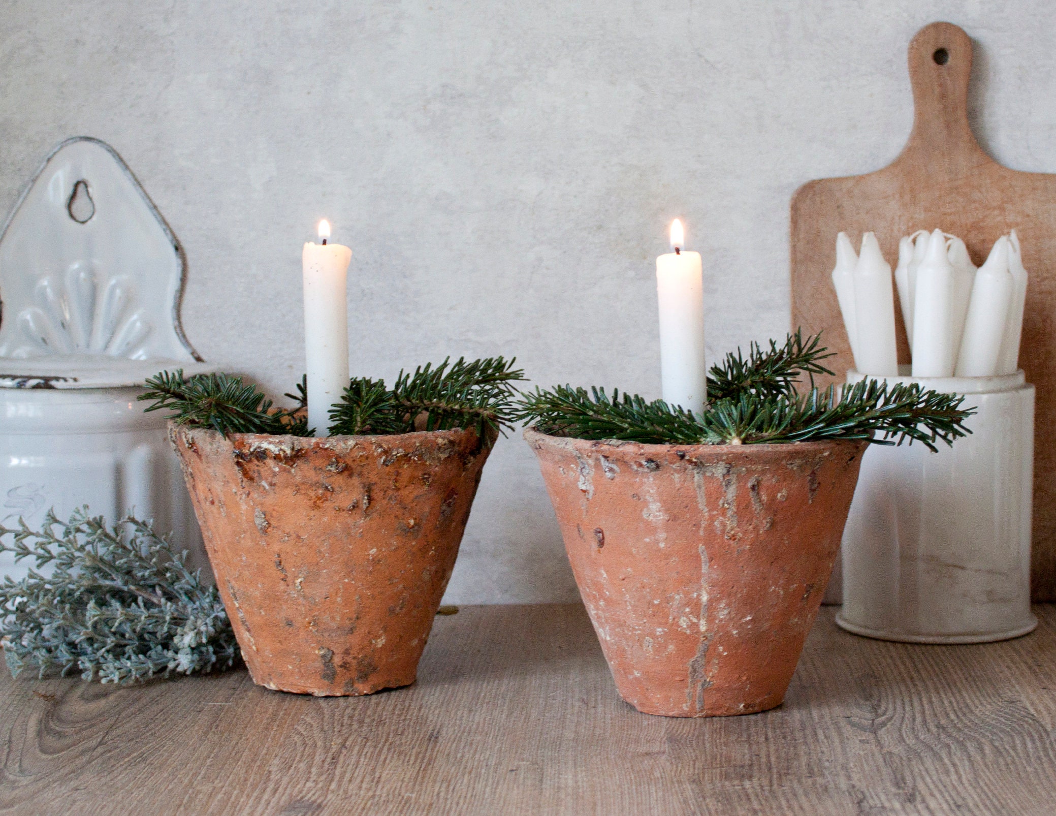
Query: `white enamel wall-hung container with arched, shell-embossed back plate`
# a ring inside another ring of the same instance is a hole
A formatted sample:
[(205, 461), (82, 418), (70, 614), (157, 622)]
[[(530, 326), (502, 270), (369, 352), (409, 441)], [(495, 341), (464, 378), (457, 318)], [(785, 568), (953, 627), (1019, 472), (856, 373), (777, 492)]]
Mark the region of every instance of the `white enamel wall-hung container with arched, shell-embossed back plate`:
[[(183, 281), (178, 242), (113, 149), (78, 137), (45, 159), (0, 236), (0, 522), (133, 513), (208, 574), (165, 418), (136, 401), (162, 369), (209, 370), (180, 328)], [(0, 556), (0, 574), (29, 567)]]

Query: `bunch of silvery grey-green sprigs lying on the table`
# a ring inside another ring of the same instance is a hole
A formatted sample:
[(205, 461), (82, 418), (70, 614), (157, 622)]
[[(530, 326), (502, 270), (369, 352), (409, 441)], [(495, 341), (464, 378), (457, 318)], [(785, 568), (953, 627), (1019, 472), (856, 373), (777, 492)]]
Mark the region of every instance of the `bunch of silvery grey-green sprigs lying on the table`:
[[(4, 539), (10, 537), (10, 541)], [(240, 661), (214, 587), (186, 565), (149, 524), (108, 526), (88, 508), (39, 531), (0, 526), (0, 552), (30, 559), (29, 576), (0, 585), (0, 636), (12, 674), (77, 671), (133, 683), (172, 672), (222, 671)], [(52, 573), (39, 572), (51, 567)]]

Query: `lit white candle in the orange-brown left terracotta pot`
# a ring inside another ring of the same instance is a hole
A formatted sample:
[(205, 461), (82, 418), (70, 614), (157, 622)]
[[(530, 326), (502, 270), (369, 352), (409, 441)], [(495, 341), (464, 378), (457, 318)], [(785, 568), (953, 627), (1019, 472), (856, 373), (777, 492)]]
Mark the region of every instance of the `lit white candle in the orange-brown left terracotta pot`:
[(348, 385), (347, 274), (352, 249), (329, 244), (329, 224), (319, 222), (321, 243), (304, 244), (304, 352), (308, 375), (308, 427), (329, 431), (329, 409)]

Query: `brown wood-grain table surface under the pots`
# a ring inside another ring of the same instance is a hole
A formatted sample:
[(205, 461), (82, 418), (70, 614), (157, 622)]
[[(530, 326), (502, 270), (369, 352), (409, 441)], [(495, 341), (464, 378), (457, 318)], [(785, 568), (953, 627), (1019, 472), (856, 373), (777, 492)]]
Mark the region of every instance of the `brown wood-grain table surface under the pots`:
[(415, 686), (367, 698), (3, 672), (0, 813), (1056, 813), (1056, 607), (987, 646), (834, 611), (781, 708), (717, 720), (623, 703), (580, 606), (463, 607)]

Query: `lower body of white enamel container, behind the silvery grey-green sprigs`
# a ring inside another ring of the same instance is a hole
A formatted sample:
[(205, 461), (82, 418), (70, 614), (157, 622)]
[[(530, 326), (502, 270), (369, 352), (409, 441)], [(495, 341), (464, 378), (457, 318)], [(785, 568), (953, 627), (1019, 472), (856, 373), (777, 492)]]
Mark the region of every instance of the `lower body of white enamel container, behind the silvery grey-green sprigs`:
[[(37, 528), (49, 508), (60, 519), (81, 505), (113, 523), (152, 519), (175, 549), (211, 579), (202, 534), (164, 412), (144, 412), (142, 388), (0, 388), (0, 521)], [(0, 554), (0, 575), (29, 563)]]

